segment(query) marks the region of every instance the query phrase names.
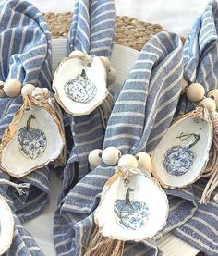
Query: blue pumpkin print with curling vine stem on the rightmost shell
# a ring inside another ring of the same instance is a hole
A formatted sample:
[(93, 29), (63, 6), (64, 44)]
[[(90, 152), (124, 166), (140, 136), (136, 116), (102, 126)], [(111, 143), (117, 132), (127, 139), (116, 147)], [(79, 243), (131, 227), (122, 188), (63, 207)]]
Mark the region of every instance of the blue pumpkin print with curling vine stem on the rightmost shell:
[(182, 176), (186, 174), (193, 165), (196, 154), (190, 148), (194, 147), (200, 140), (200, 134), (184, 134), (181, 133), (176, 138), (180, 140), (188, 140), (194, 137), (193, 142), (189, 142), (186, 146), (175, 146), (167, 150), (163, 156), (163, 166), (167, 173), (172, 176)]

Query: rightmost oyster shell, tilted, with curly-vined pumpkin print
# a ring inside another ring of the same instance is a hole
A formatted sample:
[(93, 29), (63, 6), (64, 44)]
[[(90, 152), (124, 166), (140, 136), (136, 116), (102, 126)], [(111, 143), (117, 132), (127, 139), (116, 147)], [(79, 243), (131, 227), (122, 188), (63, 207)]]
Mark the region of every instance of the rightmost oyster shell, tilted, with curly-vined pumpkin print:
[(165, 188), (195, 182), (209, 160), (212, 122), (203, 106), (180, 116), (152, 153), (152, 174)]

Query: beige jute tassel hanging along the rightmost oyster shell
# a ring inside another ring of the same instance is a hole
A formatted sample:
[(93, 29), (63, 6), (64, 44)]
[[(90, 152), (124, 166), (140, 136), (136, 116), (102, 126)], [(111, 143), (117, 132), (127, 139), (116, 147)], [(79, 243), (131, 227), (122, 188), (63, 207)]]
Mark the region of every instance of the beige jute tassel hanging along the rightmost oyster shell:
[(211, 119), (213, 126), (212, 164), (205, 169), (202, 175), (202, 177), (210, 177), (200, 199), (202, 204), (210, 201), (212, 192), (218, 187), (218, 113), (216, 111), (211, 113)]

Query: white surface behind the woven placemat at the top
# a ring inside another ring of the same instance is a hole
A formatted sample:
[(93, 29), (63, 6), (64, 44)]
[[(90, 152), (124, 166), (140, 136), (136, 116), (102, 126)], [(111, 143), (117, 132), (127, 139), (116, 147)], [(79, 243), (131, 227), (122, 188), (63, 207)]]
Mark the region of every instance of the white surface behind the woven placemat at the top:
[[(29, 0), (42, 12), (73, 10), (73, 0)], [(118, 15), (159, 23), (165, 30), (186, 35), (209, 0), (115, 0)]]

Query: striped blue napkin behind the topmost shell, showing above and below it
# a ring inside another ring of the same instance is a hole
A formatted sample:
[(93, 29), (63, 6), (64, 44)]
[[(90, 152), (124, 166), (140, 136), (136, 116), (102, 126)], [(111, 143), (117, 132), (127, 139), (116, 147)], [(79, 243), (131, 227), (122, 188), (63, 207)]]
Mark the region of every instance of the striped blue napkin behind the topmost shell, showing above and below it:
[[(67, 52), (80, 50), (90, 55), (110, 56), (115, 37), (114, 0), (78, 0), (68, 34)], [(68, 119), (74, 145), (64, 170), (63, 198), (70, 187), (89, 172), (88, 154), (102, 148), (104, 128), (99, 108), (89, 116)]]

